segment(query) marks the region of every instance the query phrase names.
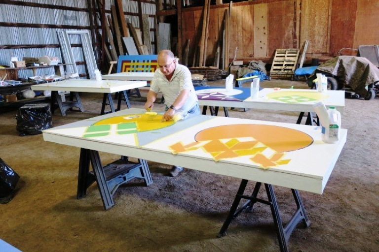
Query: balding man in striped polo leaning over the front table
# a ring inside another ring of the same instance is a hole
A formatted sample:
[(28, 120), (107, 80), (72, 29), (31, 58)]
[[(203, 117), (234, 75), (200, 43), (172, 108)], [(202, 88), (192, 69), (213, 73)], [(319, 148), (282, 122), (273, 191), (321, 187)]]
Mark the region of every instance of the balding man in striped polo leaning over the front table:
[[(200, 114), (200, 107), (193, 88), (189, 69), (176, 62), (174, 54), (170, 50), (162, 50), (158, 53), (157, 62), (159, 69), (154, 73), (145, 109), (152, 109), (159, 92), (165, 100), (166, 111), (162, 121), (173, 119), (176, 113)], [(170, 174), (177, 176), (183, 167), (173, 166)]]

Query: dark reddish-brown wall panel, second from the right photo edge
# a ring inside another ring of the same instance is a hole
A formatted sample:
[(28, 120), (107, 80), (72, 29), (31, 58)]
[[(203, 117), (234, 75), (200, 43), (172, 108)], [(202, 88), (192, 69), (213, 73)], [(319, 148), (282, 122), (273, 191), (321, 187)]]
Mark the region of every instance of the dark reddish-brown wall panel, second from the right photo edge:
[(357, 0), (333, 1), (332, 9), (329, 52), (338, 55), (344, 47), (354, 48)]

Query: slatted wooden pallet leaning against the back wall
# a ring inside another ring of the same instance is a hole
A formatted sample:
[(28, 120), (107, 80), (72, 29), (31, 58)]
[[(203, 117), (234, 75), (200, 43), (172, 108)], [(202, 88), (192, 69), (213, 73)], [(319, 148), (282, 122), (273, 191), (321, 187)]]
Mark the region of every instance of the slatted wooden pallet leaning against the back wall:
[(270, 77), (293, 77), (299, 59), (299, 49), (276, 49)]

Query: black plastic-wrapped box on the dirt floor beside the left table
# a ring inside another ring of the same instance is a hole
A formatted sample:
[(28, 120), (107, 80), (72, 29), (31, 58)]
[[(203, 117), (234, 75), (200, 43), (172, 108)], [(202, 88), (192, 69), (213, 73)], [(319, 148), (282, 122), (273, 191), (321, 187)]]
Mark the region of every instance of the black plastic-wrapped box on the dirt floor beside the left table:
[(16, 129), (20, 136), (37, 135), (53, 126), (50, 104), (27, 104), (19, 108)]

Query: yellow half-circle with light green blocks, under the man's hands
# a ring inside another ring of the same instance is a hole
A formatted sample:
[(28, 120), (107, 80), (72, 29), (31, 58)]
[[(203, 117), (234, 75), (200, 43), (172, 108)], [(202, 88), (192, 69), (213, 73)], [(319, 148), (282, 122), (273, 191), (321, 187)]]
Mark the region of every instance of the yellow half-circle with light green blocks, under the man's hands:
[(131, 114), (103, 119), (88, 126), (83, 137), (132, 134), (175, 124), (173, 120), (162, 122), (162, 117), (162, 115)]

